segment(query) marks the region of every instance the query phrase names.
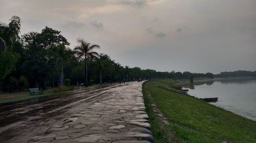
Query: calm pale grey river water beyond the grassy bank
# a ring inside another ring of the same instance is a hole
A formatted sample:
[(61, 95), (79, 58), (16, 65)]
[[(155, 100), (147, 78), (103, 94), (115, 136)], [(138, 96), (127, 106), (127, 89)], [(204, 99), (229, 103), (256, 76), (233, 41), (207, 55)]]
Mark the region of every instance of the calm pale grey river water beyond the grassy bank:
[(218, 97), (218, 102), (210, 104), (256, 121), (256, 78), (195, 81), (194, 89), (185, 84), (183, 89), (197, 98)]

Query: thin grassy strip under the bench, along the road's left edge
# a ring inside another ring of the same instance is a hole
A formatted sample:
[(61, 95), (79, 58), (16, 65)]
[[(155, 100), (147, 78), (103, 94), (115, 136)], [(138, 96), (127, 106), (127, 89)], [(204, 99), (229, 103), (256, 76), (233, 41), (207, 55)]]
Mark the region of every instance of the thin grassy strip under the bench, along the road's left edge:
[[(100, 85), (100, 84), (94, 84), (88, 88), (86, 87), (82, 87), (82, 89), (80, 90), (85, 90), (85, 89), (93, 89), (93, 88), (97, 88), (97, 87), (106, 87), (110, 84), (104, 84), (104, 85)], [(75, 87), (75, 90), (78, 90), (77, 87)], [(57, 92), (56, 92), (57, 91)], [(61, 91), (61, 90), (60, 90)], [(22, 91), (22, 92), (13, 92), (11, 94), (9, 93), (0, 93), (0, 97), (1, 95), (12, 95), (15, 94), (17, 95), (16, 97), (11, 97), (11, 98), (0, 98), (0, 103), (8, 103), (8, 102), (17, 102), (17, 101), (23, 101), (23, 100), (28, 100), (31, 98), (36, 98), (36, 97), (43, 97), (43, 96), (52, 96), (52, 95), (59, 95), (59, 94), (65, 94), (65, 93), (69, 93), (72, 91), (65, 91), (65, 92), (58, 92), (58, 88), (52, 88), (52, 89), (47, 89), (44, 91), (44, 94), (34, 94), (34, 95), (30, 95), (29, 91)]]

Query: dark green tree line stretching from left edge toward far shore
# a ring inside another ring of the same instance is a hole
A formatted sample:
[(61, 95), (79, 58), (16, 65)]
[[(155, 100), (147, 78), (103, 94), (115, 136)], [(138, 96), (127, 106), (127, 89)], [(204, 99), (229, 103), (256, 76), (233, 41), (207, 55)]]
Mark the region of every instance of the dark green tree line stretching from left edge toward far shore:
[(72, 50), (61, 32), (45, 26), (41, 32), (20, 36), (21, 19), (10, 18), (8, 24), (0, 22), (0, 88), (2, 91), (76, 85), (84, 83), (117, 82), (138, 78), (210, 77), (212, 73), (159, 72), (152, 69), (122, 66), (108, 54), (98, 53), (100, 46), (77, 39)]

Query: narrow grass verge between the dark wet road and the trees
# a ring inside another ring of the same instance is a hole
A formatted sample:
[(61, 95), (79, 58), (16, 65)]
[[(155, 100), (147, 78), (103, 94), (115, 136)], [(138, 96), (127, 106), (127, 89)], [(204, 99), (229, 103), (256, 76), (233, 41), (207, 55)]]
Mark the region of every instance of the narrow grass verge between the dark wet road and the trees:
[[(79, 90), (88, 90), (88, 89), (93, 89), (93, 88), (98, 88), (98, 87), (103, 88), (103, 87), (107, 87), (109, 85), (111, 85), (111, 84), (106, 84), (106, 85), (95, 84), (95, 85), (92, 85), (88, 88), (82, 88), (82, 89), (79, 89)], [(31, 98), (37, 98), (37, 97), (52, 96), (52, 95), (66, 94), (66, 93), (74, 92), (74, 91), (67, 91), (67, 92), (53, 93), (52, 90), (53, 89), (48, 89), (44, 92), (44, 94), (34, 94), (34, 95), (30, 95), (29, 91), (22, 91), (20, 93), (22, 93), (22, 94), (27, 93), (27, 95), (17, 96), (17, 97), (13, 97), (13, 98), (0, 99), (0, 104), (1, 103), (8, 103), (8, 102), (18, 102), (18, 101), (28, 100), (28, 99), (31, 99)], [(75, 90), (75, 91), (79, 91), (79, 90)]]

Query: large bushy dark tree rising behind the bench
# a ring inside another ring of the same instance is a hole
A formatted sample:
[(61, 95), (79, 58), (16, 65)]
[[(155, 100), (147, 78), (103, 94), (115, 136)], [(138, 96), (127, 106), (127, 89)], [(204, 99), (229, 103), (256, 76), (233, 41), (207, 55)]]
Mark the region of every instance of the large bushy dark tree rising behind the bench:
[(60, 34), (60, 31), (48, 26), (41, 33), (30, 32), (22, 37), (26, 48), (26, 62), (23, 69), (31, 79), (30, 85), (34, 85), (39, 80), (39, 85), (46, 89), (47, 77), (56, 65), (56, 55), (53, 51), (58, 45), (69, 45), (69, 42)]

